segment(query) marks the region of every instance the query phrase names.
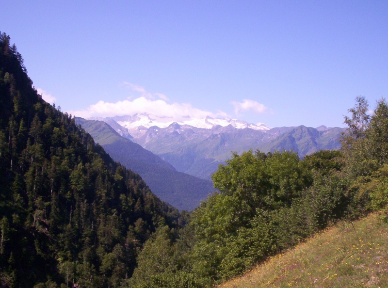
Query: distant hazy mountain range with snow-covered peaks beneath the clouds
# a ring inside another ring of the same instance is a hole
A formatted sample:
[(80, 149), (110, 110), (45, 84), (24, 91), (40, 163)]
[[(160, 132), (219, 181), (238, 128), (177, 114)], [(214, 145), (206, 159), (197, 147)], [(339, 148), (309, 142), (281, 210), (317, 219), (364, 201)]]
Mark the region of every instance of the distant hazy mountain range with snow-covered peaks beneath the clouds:
[(293, 150), (304, 157), (320, 149), (339, 149), (338, 139), (345, 130), (325, 126), (268, 128), (211, 117), (191, 119), (182, 124), (150, 114), (115, 116), (108, 120), (116, 121), (115, 125), (121, 127), (115, 128), (117, 131), (127, 129), (133, 142), (159, 155), (178, 171), (204, 179), (210, 179), (232, 151)]

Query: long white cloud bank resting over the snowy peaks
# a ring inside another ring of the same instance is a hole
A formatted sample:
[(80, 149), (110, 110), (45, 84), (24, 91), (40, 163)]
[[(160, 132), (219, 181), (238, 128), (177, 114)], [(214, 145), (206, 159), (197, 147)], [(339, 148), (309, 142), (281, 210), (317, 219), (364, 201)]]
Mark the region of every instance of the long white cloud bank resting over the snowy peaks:
[(138, 97), (134, 100), (123, 100), (115, 103), (98, 101), (84, 110), (69, 111), (72, 115), (83, 118), (93, 116), (113, 117), (116, 115), (133, 115), (136, 113), (149, 113), (165, 117), (166, 122), (173, 119), (174, 121), (183, 121), (190, 118), (205, 118), (206, 116), (217, 117), (225, 114), (224, 112), (212, 113), (209, 111), (194, 108), (189, 103), (169, 104), (162, 99), (147, 99), (145, 96)]

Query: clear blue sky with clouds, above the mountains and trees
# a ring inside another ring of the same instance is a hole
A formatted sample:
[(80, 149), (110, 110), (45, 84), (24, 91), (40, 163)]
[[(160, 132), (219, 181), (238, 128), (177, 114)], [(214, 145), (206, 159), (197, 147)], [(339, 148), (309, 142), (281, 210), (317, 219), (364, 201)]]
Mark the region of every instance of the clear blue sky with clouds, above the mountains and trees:
[(13, 0), (0, 31), (77, 116), (344, 127), (356, 96), (388, 98), (388, 1)]

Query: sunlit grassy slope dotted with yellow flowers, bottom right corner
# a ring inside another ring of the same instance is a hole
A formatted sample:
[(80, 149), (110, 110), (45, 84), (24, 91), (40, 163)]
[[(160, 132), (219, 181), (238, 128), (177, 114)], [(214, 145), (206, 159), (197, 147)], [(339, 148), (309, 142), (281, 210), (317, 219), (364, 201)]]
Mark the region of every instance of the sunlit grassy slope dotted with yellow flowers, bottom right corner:
[(378, 214), (341, 221), (219, 287), (388, 287), (388, 225)]

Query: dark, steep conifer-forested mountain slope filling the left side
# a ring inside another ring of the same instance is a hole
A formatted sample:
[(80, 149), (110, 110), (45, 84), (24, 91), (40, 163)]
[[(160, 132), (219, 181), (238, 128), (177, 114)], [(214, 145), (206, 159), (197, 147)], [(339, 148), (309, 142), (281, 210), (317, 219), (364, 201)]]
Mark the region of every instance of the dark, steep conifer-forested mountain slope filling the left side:
[(184, 219), (32, 87), (0, 33), (0, 287), (118, 287)]

